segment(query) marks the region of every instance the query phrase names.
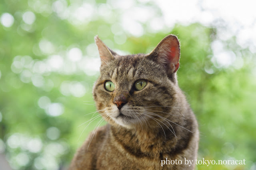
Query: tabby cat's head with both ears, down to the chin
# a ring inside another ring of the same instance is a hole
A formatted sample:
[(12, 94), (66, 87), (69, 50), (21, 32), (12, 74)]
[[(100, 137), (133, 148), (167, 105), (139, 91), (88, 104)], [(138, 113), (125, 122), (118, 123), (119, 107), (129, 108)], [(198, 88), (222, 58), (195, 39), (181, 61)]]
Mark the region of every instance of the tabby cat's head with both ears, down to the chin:
[(170, 113), (179, 88), (180, 43), (166, 36), (150, 54), (120, 56), (95, 38), (101, 58), (93, 95), (98, 112), (112, 125), (126, 128), (157, 124)]

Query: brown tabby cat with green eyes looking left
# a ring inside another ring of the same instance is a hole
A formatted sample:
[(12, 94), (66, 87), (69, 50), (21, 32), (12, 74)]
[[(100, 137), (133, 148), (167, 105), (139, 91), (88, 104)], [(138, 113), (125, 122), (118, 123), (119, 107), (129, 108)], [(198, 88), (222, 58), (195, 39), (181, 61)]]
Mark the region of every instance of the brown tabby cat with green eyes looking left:
[(199, 131), (178, 87), (178, 38), (170, 34), (150, 54), (126, 56), (94, 39), (101, 66), (93, 97), (108, 124), (90, 134), (69, 170), (193, 170)]

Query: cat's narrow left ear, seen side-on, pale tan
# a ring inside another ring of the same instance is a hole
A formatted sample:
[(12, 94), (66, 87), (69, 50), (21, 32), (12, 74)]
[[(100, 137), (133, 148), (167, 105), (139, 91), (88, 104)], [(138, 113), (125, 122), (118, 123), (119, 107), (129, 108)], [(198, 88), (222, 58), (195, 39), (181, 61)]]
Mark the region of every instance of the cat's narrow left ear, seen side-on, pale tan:
[(106, 44), (104, 44), (104, 42), (102, 42), (102, 40), (100, 40), (100, 38), (98, 36), (95, 36), (94, 40), (95, 40), (96, 45), (98, 46), (101, 64), (104, 65), (104, 64), (107, 64), (108, 62), (110, 62), (111, 60), (114, 60), (113, 55), (115, 55), (116, 53), (113, 52), (112, 50), (110, 50), (110, 48), (108, 48), (106, 46)]

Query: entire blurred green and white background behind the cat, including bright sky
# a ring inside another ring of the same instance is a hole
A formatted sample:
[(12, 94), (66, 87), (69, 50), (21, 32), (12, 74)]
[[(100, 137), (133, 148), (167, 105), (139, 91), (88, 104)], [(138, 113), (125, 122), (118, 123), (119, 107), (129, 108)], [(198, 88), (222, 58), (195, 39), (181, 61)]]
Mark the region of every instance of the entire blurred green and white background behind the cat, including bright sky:
[(136, 54), (175, 34), (179, 85), (200, 126), (198, 159), (246, 160), (197, 169), (256, 170), (252, 4), (225, 8), (218, 1), (226, 13), (217, 14), (210, 1), (180, 3), (2, 0), (0, 169), (9, 170), (5, 160), (14, 170), (65, 169), (88, 133), (106, 124), (98, 124), (100, 117), (86, 122), (98, 115), (92, 99), (100, 66), (95, 35), (119, 54)]

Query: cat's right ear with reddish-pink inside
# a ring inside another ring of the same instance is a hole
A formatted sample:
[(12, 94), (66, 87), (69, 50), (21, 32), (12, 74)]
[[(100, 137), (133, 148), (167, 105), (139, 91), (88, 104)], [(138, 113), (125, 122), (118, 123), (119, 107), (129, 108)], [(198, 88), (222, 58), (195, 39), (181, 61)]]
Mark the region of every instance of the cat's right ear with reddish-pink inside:
[(176, 36), (168, 35), (149, 55), (163, 64), (168, 73), (175, 73), (180, 66), (180, 42)]

